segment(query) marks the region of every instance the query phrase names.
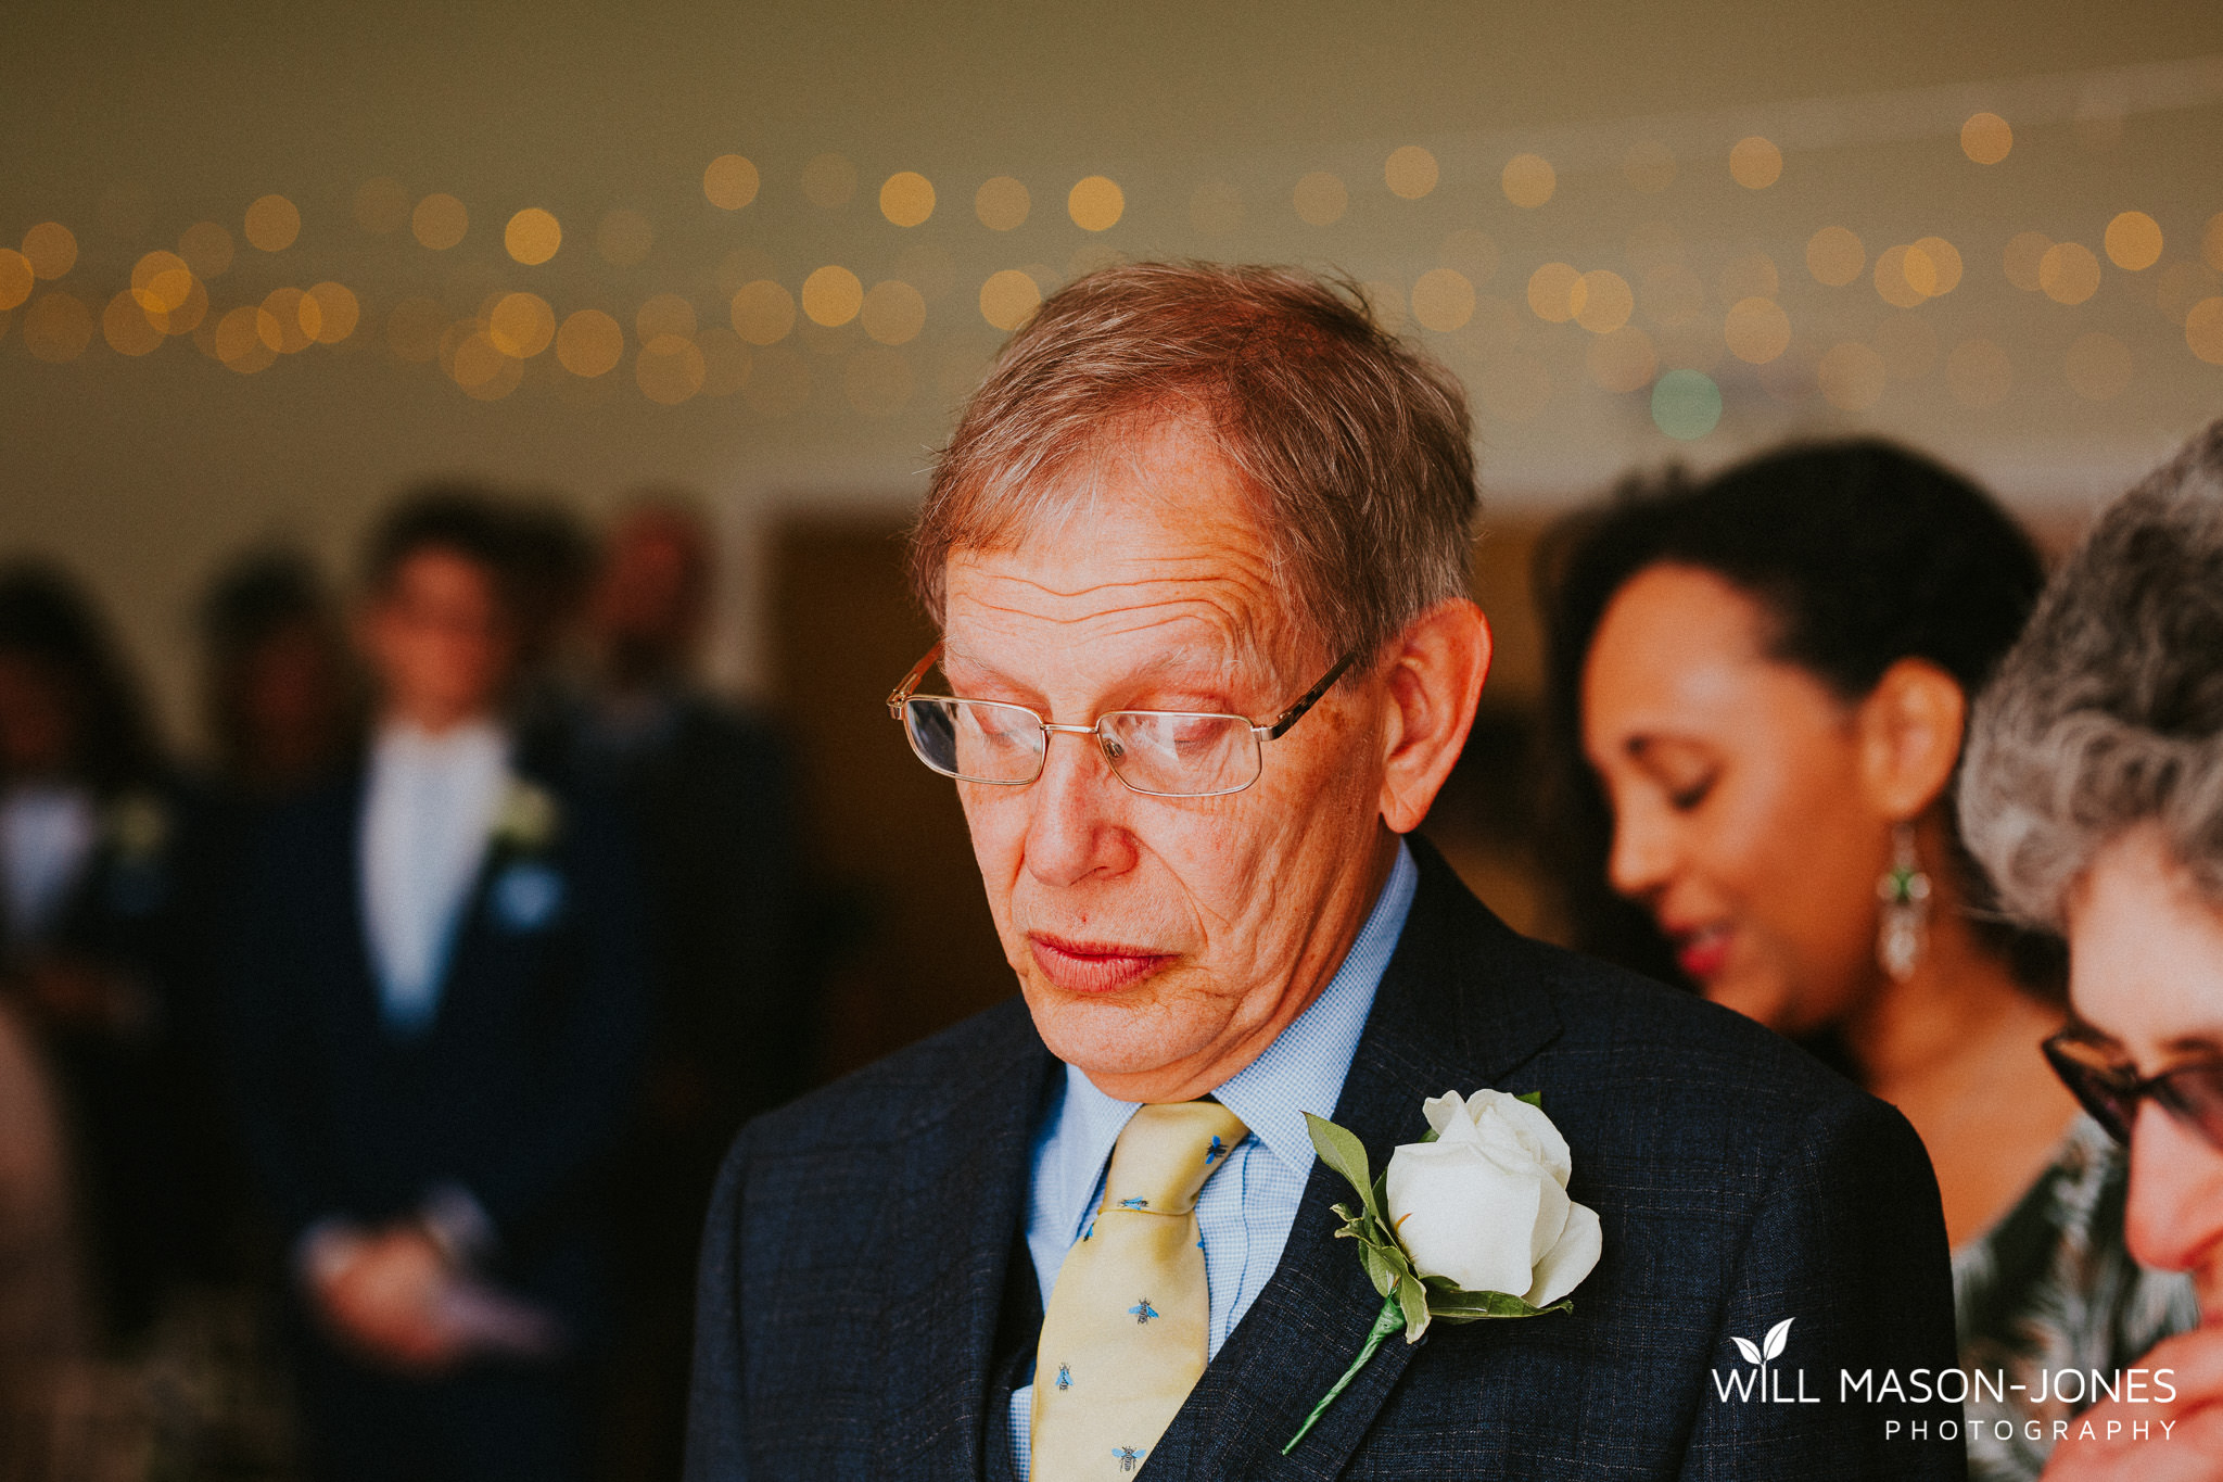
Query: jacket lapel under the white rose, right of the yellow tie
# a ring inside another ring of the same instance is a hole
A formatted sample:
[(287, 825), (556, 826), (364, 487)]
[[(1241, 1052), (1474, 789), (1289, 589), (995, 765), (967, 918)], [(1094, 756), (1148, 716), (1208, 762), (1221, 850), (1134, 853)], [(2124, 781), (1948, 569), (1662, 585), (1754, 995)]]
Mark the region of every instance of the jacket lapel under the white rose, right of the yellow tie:
[[(1418, 1140), (1420, 1102), (1496, 1084), (1558, 1031), (1549, 993), (1503, 971), (1516, 938), (1443, 858), (1412, 840), (1420, 889), (1367, 1015), (1334, 1120), (1358, 1135), (1376, 1173)], [(1485, 1075), (1474, 1082), (1476, 1069)], [(1503, 1089), (1503, 1087), (1501, 1087)], [(1392, 1335), (1292, 1453), (1280, 1446), (1358, 1355), (1380, 1313), (1356, 1249), (1336, 1240), (1334, 1204), (1352, 1189), (1312, 1166), (1280, 1266), (1205, 1369), (1147, 1475), (1334, 1478), (1389, 1400), (1414, 1346)]]

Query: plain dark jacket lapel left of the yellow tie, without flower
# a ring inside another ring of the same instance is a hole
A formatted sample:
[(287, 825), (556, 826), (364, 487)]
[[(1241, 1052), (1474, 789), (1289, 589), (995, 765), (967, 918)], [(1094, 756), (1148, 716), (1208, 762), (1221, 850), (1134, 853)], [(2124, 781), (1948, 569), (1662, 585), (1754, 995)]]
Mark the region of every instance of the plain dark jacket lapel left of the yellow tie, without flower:
[(987, 1413), (989, 1366), (1054, 1064), (1025, 1004), (1005, 1013), (1007, 1033), (974, 1087), (905, 1149), (905, 1186), (883, 1246), (887, 1478), (978, 1478), (987, 1426), (1003, 1424)]

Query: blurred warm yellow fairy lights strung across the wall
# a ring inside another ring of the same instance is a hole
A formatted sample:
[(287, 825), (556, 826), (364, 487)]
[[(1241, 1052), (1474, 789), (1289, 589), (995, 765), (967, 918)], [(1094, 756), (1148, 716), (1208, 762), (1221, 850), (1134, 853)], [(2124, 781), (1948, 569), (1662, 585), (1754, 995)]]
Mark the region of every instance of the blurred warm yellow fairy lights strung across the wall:
[[(1998, 113), (1974, 113), (1958, 144), (1970, 164), (1996, 167), (2014, 151), (2014, 127)], [(1665, 191), (1678, 171), (1676, 156), (1656, 140), (1632, 142), (1621, 162), (1627, 184), (1649, 196)], [(1783, 151), (1763, 136), (1741, 138), (1727, 151), (1727, 173), (1745, 191), (1776, 187), (1783, 171)], [(1394, 149), (1380, 167), (1383, 187), (1403, 200), (1429, 196), (1441, 180), (1438, 156), (1418, 144)], [(700, 176), (707, 204), (731, 216), (762, 213), (762, 184), (760, 167), (738, 153), (709, 160)], [(800, 169), (796, 184), (805, 200), (831, 209), (849, 204), (865, 182), (845, 156), (823, 153)], [(1496, 184), (1516, 211), (1541, 213), (1558, 196), (1558, 171), (1538, 153), (1516, 153)], [(1112, 236), (1129, 216), (1120, 182), (1085, 176), (1063, 187), (1063, 202), (1056, 193), (1051, 200), (1051, 209), (1063, 207), (1089, 240), (1063, 273), (1038, 262), (1000, 267), (960, 293), (954, 258), (940, 247), (905, 251), (894, 276), (874, 280), (843, 262), (820, 262), (782, 280), (769, 258), (734, 249), (716, 267), (711, 304), (698, 302), (702, 296), (658, 291), (622, 318), (609, 307), (558, 307), (540, 291), (500, 282), (460, 311), (453, 293), (367, 304), (358, 289), (338, 280), (285, 284), (260, 298), (227, 296), (222, 280), (240, 262), (242, 244), (282, 264), (302, 236), (300, 209), (276, 193), (247, 204), (238, 229), (216, 220), (187, 227), (176, 247), (144, 251), (127, 282), (109, 284), (78, 271), (78, 236), (47, 220), (29, 227), (20, 247), (0, 247), (0, 336), (9, 322), (20, 324), (22, 349), (47, 364), (78, 362), (102, 347), (120, 358), (144, 358), (185, 342), (240, 375), (318, 347), (358, 349), (373, 340), (398, 364), (438, 367), (476, 400), (502, 400), (536, 375), (578, 387), (629, 380), (649, 402), (676, 407), (738, 393), (765, 415), (794, 415), (814, 400), (811, 367), (796, 344), (838, 347), (840, 402), (865, 415), (894, 415), (920, 400), (911, 349), (931, 324), (1007, 333), (1065, 276), (1120, 260)], [(1354, 191), (1334, 171), (1309, 171), (1287, 187), (1285, 200), (1296, 222), (1323, 229), (1345, 220)], [(918, 171), (887, 176), (876, 187), (876, 204), (898, 233), (936, 213), (947, 222), (951, 211), (936, 182)], [(969, 207), (991, 236), (1011, 233), (1040, 211), (1034, 189), (1011, 176), (974, 184)], [(1245, 211), (1243, 189), (1227, 182), (1200, 184), (1187, 202), (1189, 227), (1205, 238), (1227, 238), (1245, 222)], [(416, 196), (393, 178), (367, 180), (353, 193), (353, 222), (371, 236), (407, 233), (433, 256), (451, 253), (473, 231), (465, 200), (445, 191)], [(1887, 384), (1921, 380), (1938, 364), (1961, 407), (2001, 404), (2016, 384), (2010, 353), (1983, 336), (1945, 344), (1947, 336), (1912, 313), (1954, 293), (1976, 271), (1996, 269), (2014, 289), (2065, 307), (2092, 300), (2110, 271), (2134, 278), (2141, 296), (2181, 329), (2185, 351), (2223, 367), (2223, 213), (2205, 220), (2194, 249), (2181, 244), (2167, 262), (2165, 233), (2147, 211), (2123, 209), (2094, 227), (2090, 242), (2021, 231), (1994, 262), (1972, 262), (1943, 236), (1865, 240), (1852, 227), (1825, 222), (1805, 238), (1803, 262), (1778, 264), (1765, 251), (1747, 251), (1712, 282), (1663, 222), (1629, 233), (1627, 271), (1545, 260), (1525, 280), (1518, 267), (1501, 278), (1509, 253), (1478, 227), (1461, 227), (1436, 247), (1434, 267), (1409, 282), (1374, 280), (1363, 289), (1385, 324), (1423, 331), (1469, 378), (1487, 415), (1536, 418), (1556, 382), (1532, 353), (1534, 336), (1538, 327), (1576, 327), (1585, 333), (1583, 375), (1609, 395), (1649, 395), (1652, 422), (1674, 438), (1701, 438), (1721, 420), (1718, 371), (1732, 360), (1750, 367), (1758, 387), (1785, 404), (1821, 398), (1856, 413)], [(514, 211), (500, 227), (502, 253), (520, 269), (538, 269), (560, 253), (578, 258), (589, 244), (609, 267), (629, 269), (649, 256), (656, 236), (645, 213), (622, 207), (591, 229), (567, 231), (545, 207)], [(1801, 344), (1783, 302), (1787, 280), (1798, 273), (1818, 289), (1843, 293), (1865, 282), (1901, 313), (1867, 336)], [(1492, 284), (1509, 291), (1492, 293)], [(831, 340), (836, 331), (847, 338)], [(956, 382), (978, 369), (978, 358), (956, 364), (954, 378), (940, 375), (943, 391), (960, 391)], [(2061, 375), (2076, 395), (2105, 402), (2132, 382), (2134, 351), (2119, 336), (2092, 329), (2070, 344)]]

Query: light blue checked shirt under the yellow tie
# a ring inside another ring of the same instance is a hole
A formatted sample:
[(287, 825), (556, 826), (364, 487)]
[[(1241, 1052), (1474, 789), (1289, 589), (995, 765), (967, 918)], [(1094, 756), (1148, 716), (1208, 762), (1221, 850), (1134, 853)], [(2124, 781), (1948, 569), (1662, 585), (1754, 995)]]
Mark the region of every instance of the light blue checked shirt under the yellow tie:
[[(1312, 1135), (1305, 1113), (1334, 1115), (1343, 1078), (1358, 1053), (1358, 1035), (1374, 1009), (1389, 953), (1405, 931), (1420, 871), (1405, 844), (1396, 849), (1389, 880), (1358, 929), (1343, 967), (1327, 980), (1294, 1024), (1265, 1053), (1212, 1093), (1243, 1118), (1249, 1135), (1196, 1195), (1196, 1226), (1205, 1238), (1205, 1289), (1212, 1293), (1209, 1360), (1243, 1322), (1280, 1264), (1296, 1206), (1312, 1178)], [(1027, 1251), (1043, 1284), (1043, 1309), (1058, 1284), (1065, 1251), (1080, 1240), (1080, 1224), (1103, 1202), (1112, 1144), (1127, 1129), (1138, 1102), (1116, 1102), (1083, 1071), (1065, 1067), (1043, 1124), (1034, 1133), (1034, 1175), (1027, 1189)], [(1034, 1438), (1034, 1384), (1011, 1391), (1011, 1455), (1027, 1482)]]

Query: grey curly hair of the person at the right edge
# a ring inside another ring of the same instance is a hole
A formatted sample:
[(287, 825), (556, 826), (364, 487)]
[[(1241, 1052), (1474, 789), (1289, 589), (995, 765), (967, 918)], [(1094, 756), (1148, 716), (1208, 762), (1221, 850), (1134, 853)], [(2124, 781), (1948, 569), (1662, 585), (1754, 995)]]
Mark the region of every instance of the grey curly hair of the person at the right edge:
[(1967, 744), (1961, 829), (2025, 920), (2058, 927), (2099, 849), (2145, 822), (2223, 902), (2223, 422), (2101, 515)]

